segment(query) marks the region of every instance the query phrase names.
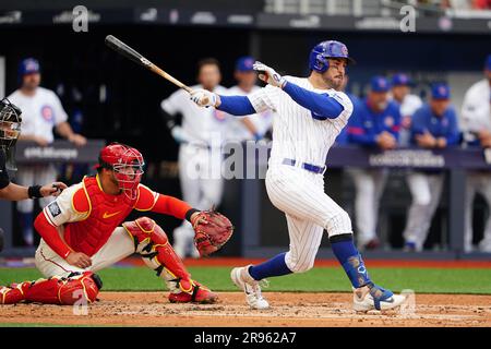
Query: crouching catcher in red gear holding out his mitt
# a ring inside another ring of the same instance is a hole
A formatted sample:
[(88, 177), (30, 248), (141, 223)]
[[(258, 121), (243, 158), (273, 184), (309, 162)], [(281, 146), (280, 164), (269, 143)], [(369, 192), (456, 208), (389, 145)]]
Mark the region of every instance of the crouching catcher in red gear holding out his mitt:
[(97, 174), (64, 190), (35, 220), (43, 238), (36, 267), (47, 279), (0, 287), (0, 304), (73, 304), (81, 298), (92, 303), (103, 286), (95, 273), (133, 253), (165, 280), (170, 302), (214, 303), (217, 294), (191, 279), (154, 220), (123, 220), (133, 209), (185, 218), (196, 231), (195, 244), (202, 256), (227, 242), (233, 230), (230, 221), (140, 184), (143, 166), (135, 148), (119, 143), (103, 148)]

